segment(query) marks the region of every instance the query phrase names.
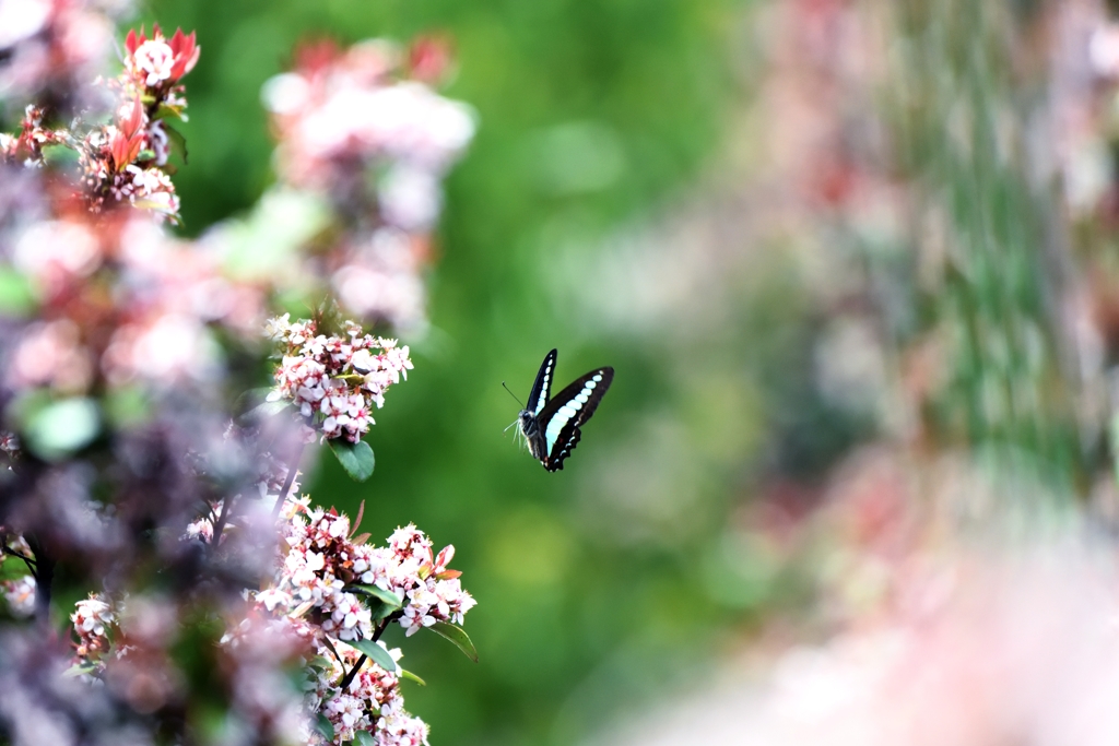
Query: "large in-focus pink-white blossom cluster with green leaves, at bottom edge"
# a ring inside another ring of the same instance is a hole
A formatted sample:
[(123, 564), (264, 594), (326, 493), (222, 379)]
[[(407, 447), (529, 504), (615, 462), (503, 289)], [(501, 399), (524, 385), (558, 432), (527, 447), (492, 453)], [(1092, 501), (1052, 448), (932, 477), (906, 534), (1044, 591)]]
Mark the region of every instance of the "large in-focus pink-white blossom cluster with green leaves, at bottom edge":
[[(261, 614), (286, 620), (294, 636), (313, 641), (321, 665), (312, 710), (330, 720), (336, 744), (358, 730), (384, 746), (426, 743), (426, 724), (404, 711), (399, 667), (385, 670), (347, 643), (376, 640), (392, 621), (408, 635), (436, 621), (461, 624), (477, 602), (460, 573), (446, 567), (454, 548), (433, 556), (431, 540), (412, 525), (397, 529), (387, 547), (370, 546), (367, 533), (352, 536), (347, 516), (312, 508), (309, 498), (289, 500), (283, 517), (286, 554), (270, 587), (251, 597)], [(395, 594), (401, 606), (386, 610), (370, 586)], [(385, 650), (399, 659), (398, 650)]]

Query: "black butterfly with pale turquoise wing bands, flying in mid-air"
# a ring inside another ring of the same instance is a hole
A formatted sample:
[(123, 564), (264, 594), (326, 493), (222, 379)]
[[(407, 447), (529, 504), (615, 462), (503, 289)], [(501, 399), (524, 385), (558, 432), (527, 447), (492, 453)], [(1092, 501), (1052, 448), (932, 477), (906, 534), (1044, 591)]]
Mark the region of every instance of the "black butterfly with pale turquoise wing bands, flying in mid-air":
[(520, 410), (514, 423), (520, 426), (520, 434), (528, 443), (533, 457), (549, 472), (563, 469), (564, 459), (571, 455), (582, 437), (580, 426), (594, 414), (614, 379), (613, 368), (595, 368), (551, 398), (556, 355), (556, 350), (552, 350), (544, 356), (536, 383), (528, 393), (528, 406)]

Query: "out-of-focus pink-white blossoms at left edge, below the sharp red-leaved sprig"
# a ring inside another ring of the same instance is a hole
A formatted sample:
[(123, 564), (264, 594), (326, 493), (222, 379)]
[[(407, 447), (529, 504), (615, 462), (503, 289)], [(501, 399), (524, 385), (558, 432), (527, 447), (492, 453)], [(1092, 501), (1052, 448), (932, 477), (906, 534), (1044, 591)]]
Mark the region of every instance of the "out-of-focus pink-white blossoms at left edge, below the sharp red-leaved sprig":
[(11, 258), (41, 306), (3, 366), (16, 390), (208, 381), (222, 366), (210, 325), (247, 330), (263, 315), (260, 289), (228, 281), (215, 257), (135, 215), (32, 223)]

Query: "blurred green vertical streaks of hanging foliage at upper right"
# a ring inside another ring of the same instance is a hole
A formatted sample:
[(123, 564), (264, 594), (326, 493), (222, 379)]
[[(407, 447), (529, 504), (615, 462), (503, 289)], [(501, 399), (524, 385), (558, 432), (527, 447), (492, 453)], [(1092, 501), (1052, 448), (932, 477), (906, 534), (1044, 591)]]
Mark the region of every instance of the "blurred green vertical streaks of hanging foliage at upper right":
[(899, 166), (921, 183), (916, 213), (942, 230), (942, 245), (927, 242), (922, 251), (944, 253), (942, 276), (915, 289), (916, 322), (899, 341), (930, 330), (943, 337), (952, 369), (928, 410), (941, 446), (1027, 455), (1075, 492), (1100, 454), (1082, 442), (1061, 318), (1069, 272), (1060, 195), (1034, 176), (1040, 153), (1028, 142), (1051, 93), (1037, 50), (1006, 43), (1008, 31), (1025, 37), (1038, 10), (899, 4), (904, 53), (887, 111), (896, 117)]

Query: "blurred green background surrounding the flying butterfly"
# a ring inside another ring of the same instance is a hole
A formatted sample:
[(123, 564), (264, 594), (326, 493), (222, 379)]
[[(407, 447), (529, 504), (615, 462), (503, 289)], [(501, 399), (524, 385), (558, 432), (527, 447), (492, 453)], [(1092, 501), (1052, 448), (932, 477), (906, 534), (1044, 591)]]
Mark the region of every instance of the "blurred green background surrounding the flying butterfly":
[[(843, 330), (780, 240), (751, 251), (733, 190), (711, 176), (733, 179), (735, 149), (749, 160), (763, 147), (750, 133), (764, 116), (751, 104), (768, 4), (147, 3), (145, 20), (197, 30), (203, 47), (186, 81), (190, 161), (176, 177), (191, 235), (269, 186), (260, 89), (297, 41), (453, 40), (444, 93), (480, 126), (446, 182), (432, 330), (404, 340), (415, 370), (377, 413), (373, 479), (355, 485), (323, 459), (305, 484), (351, 514), (365, 500), (374, 537), (414, 521), (458, 549), (481, 662), (434, 636), (389, 636), (427, 681), (404, 686), (433, 744), (579, 743), (705, 676), (810, 592), (780, 548), (737, 530), (741, 512), (767, 480), (791, 513), (806, 509), (796, 485), (877, 425), (873, 405), (821, 395), (816, 343)], [(712, 223), (733, 256), (712, 261)], [(877, 257), (867, 273), (904, 265), (896, 240), (830, 239)], [(519, 406), (500, 384), (527, 395), (553, 347), (561, 384), (599, 365), (617, 377), (549, 474), (502, 434)], [(774, 488), (774, 473), (788, 483)]]

